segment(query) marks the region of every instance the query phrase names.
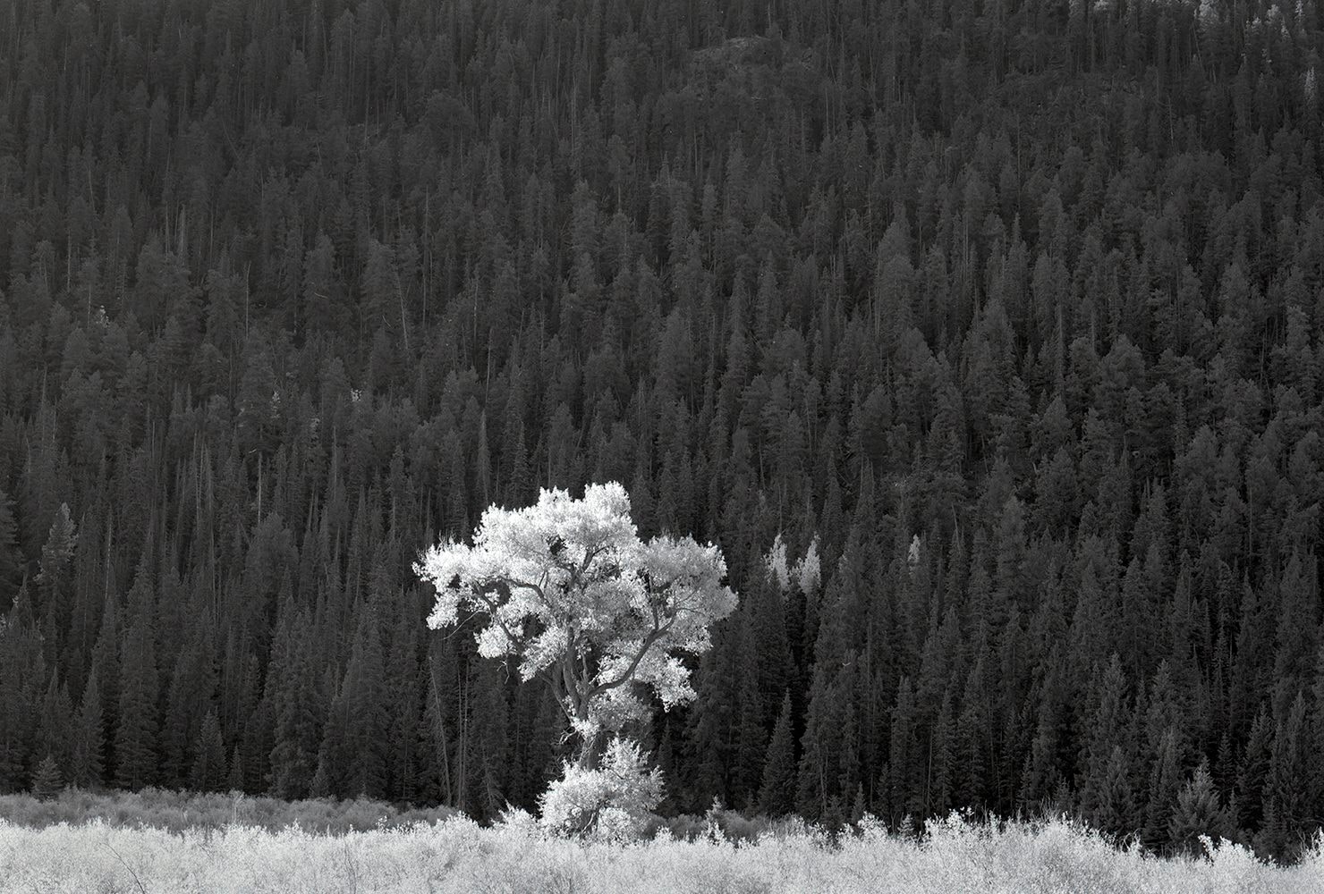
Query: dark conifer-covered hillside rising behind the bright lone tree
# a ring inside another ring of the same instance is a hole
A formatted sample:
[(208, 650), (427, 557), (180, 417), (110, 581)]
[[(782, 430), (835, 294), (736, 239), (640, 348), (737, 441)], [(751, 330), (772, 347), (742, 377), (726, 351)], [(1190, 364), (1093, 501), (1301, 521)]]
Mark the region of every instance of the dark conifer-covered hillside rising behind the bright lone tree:
[(532, 807), (556, 704), (410, 565), (618, 480), (741, 594), (667, 809), (1291, 856), (1321, 12), (4, 4), (0, 791)]

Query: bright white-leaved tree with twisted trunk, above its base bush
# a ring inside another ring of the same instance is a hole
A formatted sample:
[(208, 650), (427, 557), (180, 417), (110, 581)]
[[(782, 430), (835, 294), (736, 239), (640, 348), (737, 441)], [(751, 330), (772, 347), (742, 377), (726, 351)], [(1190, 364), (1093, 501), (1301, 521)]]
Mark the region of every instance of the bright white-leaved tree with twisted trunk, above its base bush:
[(479, 655), (518, 657), (524, 681), (547, 681), (579, 738), (580, 774), (598, 768), (605, 734), (649, 717), (647, 690), (663, 709), (694, 698), (677, 653), (706, 651), (708, 627), (736, 606), (720, 550), (642, 541), (614, 481), (583, 500), (544, 489), (532, 507), (490, 507), (471, 546), (442, 541), (414, 571), (437, 589), (429, 627), (479, 616)]

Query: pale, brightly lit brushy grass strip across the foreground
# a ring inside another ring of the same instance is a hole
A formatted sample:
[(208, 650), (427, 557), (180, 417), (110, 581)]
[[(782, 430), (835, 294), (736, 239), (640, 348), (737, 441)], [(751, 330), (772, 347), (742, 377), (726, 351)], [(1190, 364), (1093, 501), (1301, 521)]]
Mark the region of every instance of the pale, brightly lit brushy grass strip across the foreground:
[(1230, 844), (1200, 860), (1158, 860), (1119, 852), (1068, 823), (993, 831), (960, 819), (935, 825), (923, 842), (865, 831), (835, 845), (781, 834), (739, 846), (665, 837), (585, 844), (547, 837), (528, 821), (485, 829), (461, 817), (340, 834), (301, 827), (131, 828), (107, 819), (36, 828), (0, 819), (0, 890), (1319, 894), (1324, 850), (1316, 842), (1291, 868), (1260, 864)]

